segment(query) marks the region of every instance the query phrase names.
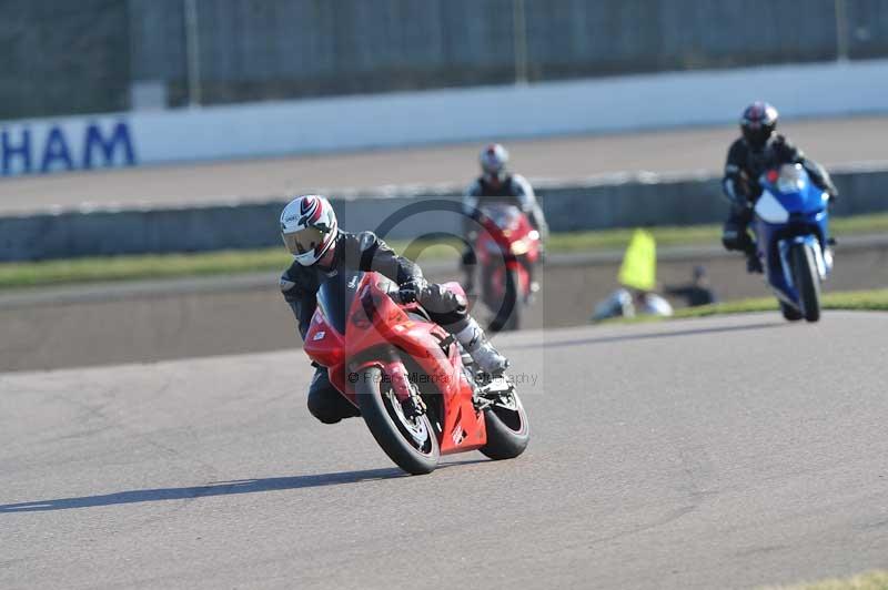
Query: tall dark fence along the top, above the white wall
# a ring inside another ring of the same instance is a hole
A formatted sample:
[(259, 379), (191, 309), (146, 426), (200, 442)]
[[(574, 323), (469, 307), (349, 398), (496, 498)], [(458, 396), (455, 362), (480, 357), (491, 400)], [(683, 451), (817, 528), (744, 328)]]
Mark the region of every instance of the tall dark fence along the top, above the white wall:
[(888, 55), (884, 0), (0, 0), (0, 120), (125, 110), (141, 82), (179, 106)]

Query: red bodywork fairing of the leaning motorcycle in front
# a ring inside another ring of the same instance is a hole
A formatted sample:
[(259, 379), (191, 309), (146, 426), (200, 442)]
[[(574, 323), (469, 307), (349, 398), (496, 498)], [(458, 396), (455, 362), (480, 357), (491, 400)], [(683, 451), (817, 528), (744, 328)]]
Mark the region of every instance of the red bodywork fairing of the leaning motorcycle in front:
[[(315, 312), (305, 335), (305, 353), (327, 367), (330, 382), (357, 406), (350, 376), (361, 375), (377, 366), (392, 379), (395, 395), (410, 390), (411, 359), (418, 375), (413, 377), (442, 396), (443, 425), (436, 433), (442, 454), (462, 452), (487, 441), (484, 416), (476, 411), (473, 388), (463, 373), (462, 358), (455, 344), (442, 348), (448, 335), (436, 324), (411, 317), (415, 306), (396, 304), (376, 284), (375, 273), (366, 273), (357, 287), (357, 296), (349, 311), (346, 335), (339, 334), (320, 311)], [(460, 291), (462, 291), (460, 288)]]

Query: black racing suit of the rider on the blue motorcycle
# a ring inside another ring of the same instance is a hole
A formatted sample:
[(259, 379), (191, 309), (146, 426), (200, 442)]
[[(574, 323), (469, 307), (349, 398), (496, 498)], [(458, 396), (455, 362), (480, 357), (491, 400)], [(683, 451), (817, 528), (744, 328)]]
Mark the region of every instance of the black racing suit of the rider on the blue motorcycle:
[(774, 135), (760, 150), (753, 149), (743, 138), (735, 141), (728, 150), (725, 163), (725, 177), (722, 187), (730, 201), (730, 216), (722, 231), (722, 243), (727, 250), (738, 250), (755, 255), (756, 246), (747, 231), (753, 221), (753, 205), (761, 195), (758, 179), (766, 171), (780, 164), (801, 164), (811, 182), (831, 197), (838, 195), (829, 173), (814, 160), (805, 157), (783, 135)]

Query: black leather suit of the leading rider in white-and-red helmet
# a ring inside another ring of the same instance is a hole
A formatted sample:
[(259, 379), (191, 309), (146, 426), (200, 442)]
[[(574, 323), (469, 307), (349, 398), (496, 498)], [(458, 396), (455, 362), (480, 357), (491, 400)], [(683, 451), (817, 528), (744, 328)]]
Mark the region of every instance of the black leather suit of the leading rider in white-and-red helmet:
[[(317, 289), (325, 277), (334, 276), (342, 268), (374, 271), (397, 285), (423, 278), (422, 269), (416, 264), (395, 254), (373, 232), (354, 234), (340, 231), (330, 268), (321, 268), (319, 265), (302, 266), (293, 262), (281, 276), (281, 292), (296, 316), (303, 340), (317, 307)], [(418, 294), (417, 302), (432, 321), (447, 332), (460, 332), (468, 322), (465, 298), (441, 285), (430, 283), (428, 288)], [(309, 387), (307, 403), (309, 411), (326, 424), (359, 415), (357, 409), (331, 385), (325, 367), (317, 367), (315, 370)]]

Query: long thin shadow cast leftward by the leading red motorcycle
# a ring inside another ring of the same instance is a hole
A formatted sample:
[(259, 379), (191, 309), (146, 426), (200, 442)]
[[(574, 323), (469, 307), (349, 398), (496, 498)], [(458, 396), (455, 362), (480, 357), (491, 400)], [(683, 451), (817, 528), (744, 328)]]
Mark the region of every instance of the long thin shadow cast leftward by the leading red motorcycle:
[[(487, 462), (486, 459), (448, 462), (438, 466), (438, 469)], [(60, 498), (57, 500), (38, 500), (32, 502), (0, 505), (0, 516), (21, 512), (46, 512), (50, 510), (70, 510), (73, 508), (94, 508), (98, 506), (113, 506), (119, 503), (155, 502), (162, 500), (191, 500), (210, 496), (228, 496), (232, 494), (254, 494), (260, 491), (274, 491), (302, 488), (317, 488), (323, 486), (341, 486), (344, 484), (361, 484), (380, 479), (396, 479), (411, 477), (395, 467), (386, 469), (366, 469), (363, 471), (342, 471), (339, 474), (319, 474), (312, 476), (270, 477), (265, 479), (241, 479), (236, 481), (216, 481), (206, 486), (190, 488), (160, 488), (131, 491), (118, 491), (102, 496), (83, 496), (80, 498)]]

